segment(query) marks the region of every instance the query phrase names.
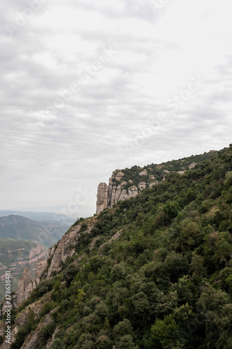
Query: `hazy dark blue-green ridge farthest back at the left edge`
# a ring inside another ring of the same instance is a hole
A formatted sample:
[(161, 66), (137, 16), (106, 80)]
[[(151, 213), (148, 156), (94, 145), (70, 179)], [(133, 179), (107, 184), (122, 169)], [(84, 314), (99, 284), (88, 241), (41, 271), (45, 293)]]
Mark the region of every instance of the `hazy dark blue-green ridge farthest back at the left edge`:
[(16, 214), (0, 217), (0, 239), (36, 240), (50, 247), (61, 239), (66, 230), (67, 225), (62, 223), (35, 221)]

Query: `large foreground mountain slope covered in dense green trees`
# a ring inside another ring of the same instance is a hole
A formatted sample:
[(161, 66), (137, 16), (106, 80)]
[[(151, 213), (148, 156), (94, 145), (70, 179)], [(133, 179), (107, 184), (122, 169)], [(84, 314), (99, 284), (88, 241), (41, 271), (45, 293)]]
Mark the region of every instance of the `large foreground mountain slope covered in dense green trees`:
[(10, 348), (232, 348), (231, 204), (232, 144), (78, 219), (11, 312)]

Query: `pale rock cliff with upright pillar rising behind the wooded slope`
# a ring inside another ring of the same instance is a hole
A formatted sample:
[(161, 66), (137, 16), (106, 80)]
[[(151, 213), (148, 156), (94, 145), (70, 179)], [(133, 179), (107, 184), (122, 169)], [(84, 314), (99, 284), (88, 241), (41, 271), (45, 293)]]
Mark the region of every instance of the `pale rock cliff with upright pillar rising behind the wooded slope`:
[(168, 161), (160, 165), (151, 164), (144, 166), (144, 168), (133, 166), (130, 169), (115, 170), (109, 178), (109, 185), (100, 183), (98, 186), (96, 213), (100, 214), (103, 209), (113, 207), (118, 201), (133, 198), (144, 189), (159, 184), (165, 180), (168, 173), (184, 174), (187, 170), (191, 170), (198, 163), (212, 158), (215, 154), (217, 154), (217, 151), (210, 151), (176, 161)]

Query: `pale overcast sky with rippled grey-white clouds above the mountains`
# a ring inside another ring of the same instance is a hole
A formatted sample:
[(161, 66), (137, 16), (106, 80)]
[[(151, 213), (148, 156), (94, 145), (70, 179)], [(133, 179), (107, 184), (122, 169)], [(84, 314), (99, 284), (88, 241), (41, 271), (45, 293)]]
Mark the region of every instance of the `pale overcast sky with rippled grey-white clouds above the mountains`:
[(1, 0), (0, 30), (0, 209), (232, 142), (231, 0)]

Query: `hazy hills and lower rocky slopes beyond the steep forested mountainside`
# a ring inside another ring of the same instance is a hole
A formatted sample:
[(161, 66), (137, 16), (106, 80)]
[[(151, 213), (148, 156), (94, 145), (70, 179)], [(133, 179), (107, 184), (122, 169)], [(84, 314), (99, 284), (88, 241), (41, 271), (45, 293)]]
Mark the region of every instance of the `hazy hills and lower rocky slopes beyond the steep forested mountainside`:
[[(73, 220), (71, 220), (73, 223)], [(5, 271), (12, 272), (12, 288), (18, 287), (25, 267), (35, 275), (36, 263), (47, 258), (47, 247), (56, 243), (70, 225), (66, 221), (35, 221), (17, 214), (0, 217), (0, 279)], [(5, 295), (5, 285), (0, 283), (0, 301)]]

